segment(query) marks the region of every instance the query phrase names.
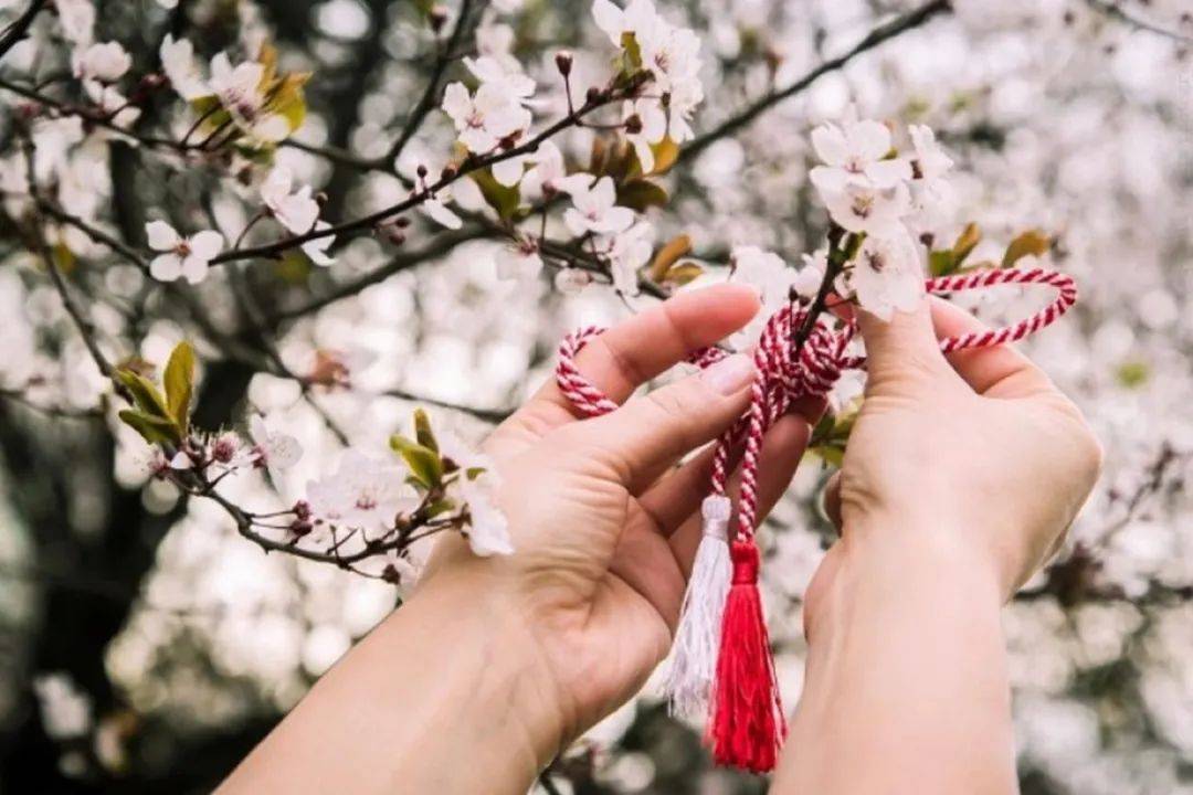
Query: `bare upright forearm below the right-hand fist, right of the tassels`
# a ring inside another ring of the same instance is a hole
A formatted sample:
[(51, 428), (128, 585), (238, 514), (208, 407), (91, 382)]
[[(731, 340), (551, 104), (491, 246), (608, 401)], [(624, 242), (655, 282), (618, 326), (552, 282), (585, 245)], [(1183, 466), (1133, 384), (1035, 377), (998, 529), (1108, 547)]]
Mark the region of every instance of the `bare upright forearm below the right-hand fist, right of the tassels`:
[(847, 528), (817, 595), (773, 791), (1014, 793), (997, 578), (898, 528), (867, 533)]

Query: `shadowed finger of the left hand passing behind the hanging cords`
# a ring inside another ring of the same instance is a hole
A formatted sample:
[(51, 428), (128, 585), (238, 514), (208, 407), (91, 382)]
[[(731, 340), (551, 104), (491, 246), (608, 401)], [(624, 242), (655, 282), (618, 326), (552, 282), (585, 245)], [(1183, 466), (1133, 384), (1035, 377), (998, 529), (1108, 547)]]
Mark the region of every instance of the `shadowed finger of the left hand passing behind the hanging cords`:
[[(759, 521), (766, 517), (774, 504), (779, 502), (808, 447), (811, 426), (798, 415), (781, 417), (762, 440), (762, 453), (758, 466), (758, 515)], [(741, 492), (741, 470), (734, 472), (730, 479), (729, 496), (737, 504)], [(707, 493), (707, 490), (705, 490)], [(730, 524), (730, 532), (735, 526)], [(687, 578), (692, 573), (692, 560), (700, 544), (703, 527), (699, 511), (694, 513), (670, 536), (672, 552)]]

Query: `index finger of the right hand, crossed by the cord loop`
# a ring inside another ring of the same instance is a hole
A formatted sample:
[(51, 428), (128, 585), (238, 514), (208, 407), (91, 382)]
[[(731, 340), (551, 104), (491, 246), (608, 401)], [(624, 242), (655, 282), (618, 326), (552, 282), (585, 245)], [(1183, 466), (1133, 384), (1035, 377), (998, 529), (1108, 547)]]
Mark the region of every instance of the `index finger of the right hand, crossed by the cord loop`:
[[(932, 299), (932, 322), (941, 339), (988, 327), (960, 306), (941, 298)], [(958, 350), (946, 356), (953, 369), (978, 395), (1014, 398), (1050, 389), (1051, 381), (1039, 367), (1007, 344)]]

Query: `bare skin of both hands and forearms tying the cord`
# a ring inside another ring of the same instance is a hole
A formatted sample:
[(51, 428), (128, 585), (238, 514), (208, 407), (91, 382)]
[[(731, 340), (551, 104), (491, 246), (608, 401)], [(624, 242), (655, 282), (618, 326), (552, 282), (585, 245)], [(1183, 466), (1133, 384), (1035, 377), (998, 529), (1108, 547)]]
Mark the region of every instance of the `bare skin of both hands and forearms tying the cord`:
[[(612, 399), (625, 403), (619, 410), (581, 421), (551, 383), (486, 442), (502, 477), (499, 502), (509, 518), (515, 553), (481, 559), (463, 540), (443, 539), (412, 598), (313, 688), (222, 791), (520, 794), (571, 739), (637, 692), (666, 656), (679, 617), (700, 538), (699, 505), (711, 467), (706, 445), (747, 408), (753, 367), (748, 358), (733, 356), (630, 396), (694, 349), (743, 327), (758, 309), (750, 288), (722, 285), (675, 297), (589, 342), (577, 365)], [(946, 327), (969, 322), (939, 315)], [(997, 764), (978, 764), (985, 756), (973, 752), (970, 756), (978, 759), (972, 765), (966, 758), (958, 776), (941, 781), (977, 781), (969, 778), (972, 768), (973, 775), (990, 776), (979, 782), (985, 787), (989, 781), (989, 787), (965, 791), (1009, 791), (1014, 781), (1008, 778), (1013, 770), (1006, 682), (997, 673), (1003, 653), (999, 604), (1080, 507), (1096, 470), (1096, 446), (1076, 411), (1038, 371), (1032, 368), (1037, 375), (1031, 379), (996, 378), (1012, 361), (1024, 361), (1013, 352), (952, 360), (973, 389), (989, 387), (978, 389), (989, 398), (977, 397), (939, 353), (933, 358), (927, 309), (890, 325), (863, 318), (863, 333), (867, 347), (874, 346), (871, 398), (833, 499), (842, 517), (842, 539), (809, 592), (808, 685), (775, 791), (863, 791), (848, 776), (834, 778), (829, 770), (843, 753), (841, 745), (853, 741), (853, 732), (872, 740), (888, 763), (903, 764), (888, 753), (895, 747), (889, 738), (872, 737), (880, 734), (872, 727), (852, 727), (840, 719), (832, 723), (834, 733), (822, 734), (816, 726), (834, 720), (827, 702), (866, 684), (876, 658), (900, 654), (907, 662), (902, 667), (892, 663), (891, 671), (925, 663), (951, 670), (954, 657), (964, 654), (963, 662), (984, 675), (973, 681), (945, 677), (939, 691), (932, 690), (931, 679), (921, 683), (929, 700), (964, 700), (964, 709), (979, 713), (975, 726), (997, 729), (983, 738), (994, 749), (987, 756)], [(904, 336), (922, 344), (904, 352)], [(886, 348), (884, 341), (890, 342)], [(915, 375), (902, 374), (904, 368)], [(928, 399), (922, 408), (921, 398)], [(1000, 417), (996, 446), (948, 454), (942, 459), (947, 466), (921, 473), (920, 466), (931, 464), (944, 445), (946, 430), (979, 434), (994, 422), (997, 412), (984, 402), (995, 398), (1039, 404), (1040, 415)], [(939, 410), (946, 406), (958, 415), (942, 422)], [(768, 433), (759, 484), (764, 513), (790, 482), (808, 441), (809, 420), (821, 408), (804, 400)], [(968, 420), (965, 411), (979, 416)], [(902, 427), (908, 417), (921, 434)], [(1052, 421), (1068, 423), (1073, 433), (1058, 439)], [(1026, 427), (1019, 428), (1020, 422)], [(934, 435), (923, 436), (933, 424), (939, 426)], [(1073, 451), (1057, 452), (1056, 443)], [(907, 451), (904, 465), (889, 462), (892, 449)], [(954, 461), (966, 455), (988, 464)], [(971, 487), (960, 479), (1001, 472), (997, 462), (1015, 456), (1028, 472), (1052, 467), (1047, 480), (999, 476), (987, 486)], [(919, 464), (907, 466), (911, 462)], [(914, 492), (908, 490), (910, 476), (919, 476)], [(1056, 485), (1051, 499), (1034, 493), (1041, 485)], [(946, 499), (944, 493), (954, 490), (972, 493), (969, 499)], [(915, 499), (907, 498), (911, 493)], [(926, 524), (931, 532), (921, 532)], [(928, 560), (939, 569), (921, 561), (920, 553), (931, 553)], [(969, 576), (941, 577), (950, 567)], [(883, 577), (870, 583), (866, 578), (874, 571)], [(950, 583), (947, 592), (932, 590)], [(900, 607), (877, 605), (878, 597)], [(940, 613), (934, 607), (938, 597), (958, 605), (958, 620), (928, 632), (921, 625)], [(970, 602), (972, 613), (963, 611)], [(876, 621), (871, 611), (879, 608), (895, 613), (892, 619), (905, 625), (910, 636), (894, 636)], [(975, 616), (984, 623), (971, 626)], [(854, 633), (854, 621), (869, 629)], [(969, 644), (977, 641), (987, 653), (971, 660), (978, 654), (968, 651)], [(920, 642), (931, 647), (921, 648)], [(863, 659), (859, 652), (870, 657)], [(828, 666), (841, 666), (845, 673), (826, 671)], [(902, 679), (895, 673), (878, 679), (874, 698), (853, 700), (853, 715), (871, 722), (890, 714), (905, 720), (884, 701), (890, 695), (884, 688)], [(954, 704), (934, 726), (923, 721), (923, 737), (915, 739), (919, 752), (950, 743), (942, 735), (952, 731), (950, 721), (959, 709)]]

